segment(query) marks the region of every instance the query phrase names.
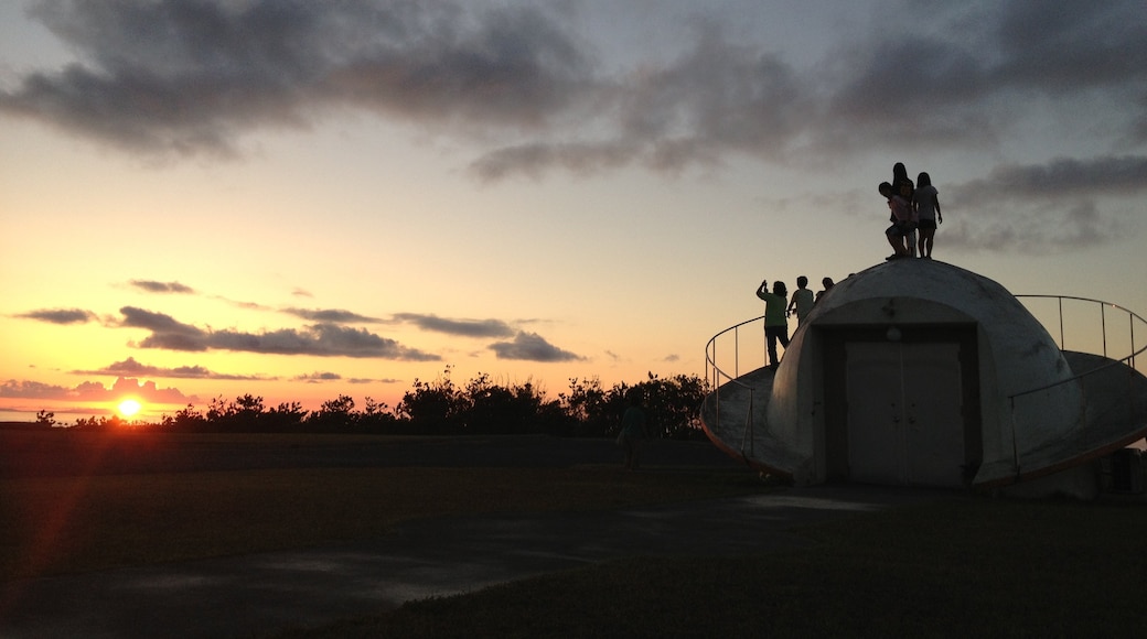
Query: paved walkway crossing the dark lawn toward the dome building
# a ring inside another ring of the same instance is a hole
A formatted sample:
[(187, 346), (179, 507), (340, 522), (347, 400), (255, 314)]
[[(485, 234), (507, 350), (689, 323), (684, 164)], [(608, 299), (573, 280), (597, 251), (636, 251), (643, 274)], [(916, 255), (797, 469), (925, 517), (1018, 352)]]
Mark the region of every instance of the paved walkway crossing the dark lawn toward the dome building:
[(0, 637), (258, 637), (614, 558), (793, 547), (795, 526), (944, 496), (819, 487), (610, 512), (445, 518), (369, 543), (19, 581), (0, 590)]

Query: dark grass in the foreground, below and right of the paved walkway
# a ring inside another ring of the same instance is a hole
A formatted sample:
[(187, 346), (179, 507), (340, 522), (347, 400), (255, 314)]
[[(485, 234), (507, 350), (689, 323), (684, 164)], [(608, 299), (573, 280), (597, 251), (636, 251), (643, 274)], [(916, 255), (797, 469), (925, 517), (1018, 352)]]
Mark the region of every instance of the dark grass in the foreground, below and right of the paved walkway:
[(632, 558), (278, 637), (1133, 637), (1144, 530), (1139, 504), (912, 506), (802, 550)]

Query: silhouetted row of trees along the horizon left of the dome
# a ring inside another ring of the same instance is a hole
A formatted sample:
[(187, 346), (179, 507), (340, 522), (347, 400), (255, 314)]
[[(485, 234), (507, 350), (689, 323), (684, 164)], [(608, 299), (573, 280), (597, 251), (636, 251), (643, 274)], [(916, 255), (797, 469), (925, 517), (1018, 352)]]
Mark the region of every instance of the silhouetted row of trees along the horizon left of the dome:
[[(604, 388), (596, 378), (570, 379), (569, 391), (556, 400), (546, 397), (535, 384), (504, 385), (478, 373), (465, 386), (450, 377), (451, 369), (432, 381), (415, 379), (397, 407), (366, 397), (340, 395), (319, 410), (303, 410), (298, 402), (267, 407), (260, 396), (242, 395), (227, 401), (216, 397), (205, 410), (193, 404), (163, 415), (157, 424), (126, 421), (119, 417), (80, 418), (71, 426), (103, 431), (122, 426), (175, 433), (340, 433), (340, 434), (552, 434), (561, 436), (611, 436), (625, 411), (626, 393), (637, 388), (643, 397), (651, 436), (703, 439), (697, 415), (709, 393), (708, 380), (677, 374)], [(54, 415), (40, 411), (37, 421), (54, 425)]]

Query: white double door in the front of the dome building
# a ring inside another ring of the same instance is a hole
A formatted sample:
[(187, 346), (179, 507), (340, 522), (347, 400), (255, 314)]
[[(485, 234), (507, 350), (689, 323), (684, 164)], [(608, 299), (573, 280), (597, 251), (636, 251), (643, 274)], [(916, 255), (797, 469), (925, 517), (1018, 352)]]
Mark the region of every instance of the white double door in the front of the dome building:
[(962, 486), (959, 352), (946, 342), (845, 345), (852, 481)]

